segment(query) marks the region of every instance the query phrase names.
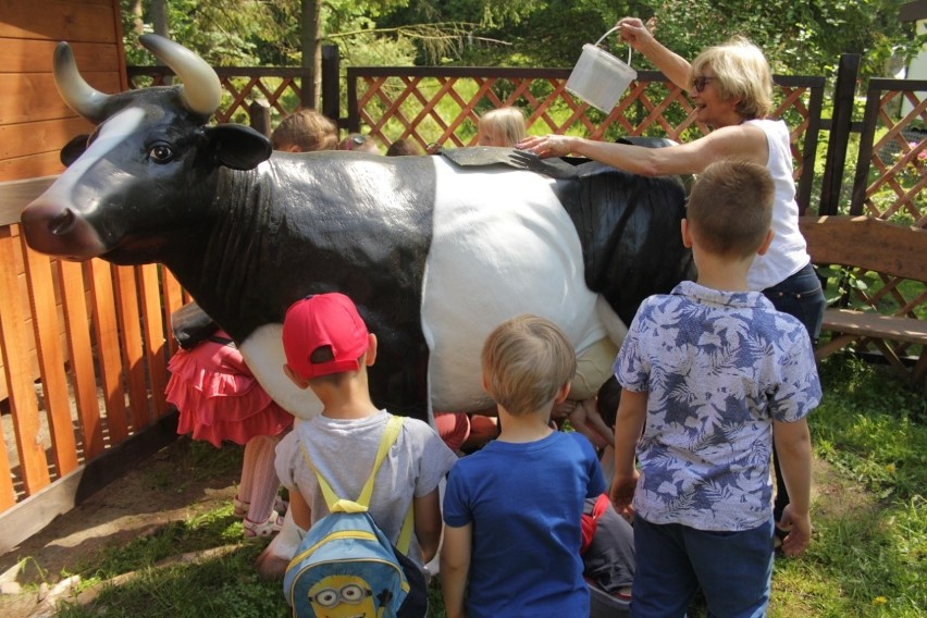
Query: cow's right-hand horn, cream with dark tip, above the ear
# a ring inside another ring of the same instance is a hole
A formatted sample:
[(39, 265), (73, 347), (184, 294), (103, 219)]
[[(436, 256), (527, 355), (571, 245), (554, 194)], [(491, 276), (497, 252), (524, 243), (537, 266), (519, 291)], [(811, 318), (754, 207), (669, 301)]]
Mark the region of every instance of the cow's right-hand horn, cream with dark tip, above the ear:
[(138, 40), (184, 83), (182, 96), (188, 110), (208, 116), (219, 109), (222, 85), (219, 75), (203, 59), (162, 36), (141, 35)]

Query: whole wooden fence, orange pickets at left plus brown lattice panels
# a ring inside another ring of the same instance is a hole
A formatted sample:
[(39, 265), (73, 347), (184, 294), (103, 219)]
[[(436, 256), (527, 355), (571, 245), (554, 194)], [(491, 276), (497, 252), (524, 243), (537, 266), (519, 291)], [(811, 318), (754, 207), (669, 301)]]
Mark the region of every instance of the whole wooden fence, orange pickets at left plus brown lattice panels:
[[(337, 53), (329, 49), (324, 58), (323, 111), (384, 147), (398, 138), (422, 146), (474, 144), (479, 114), (507, 104), (530, 110), (535, 133), (685, 140), (707, 132), (683, 94), (653, 72), (641, 72), (616, 109), (602, 114), (566, 92), (569, 70), (350, 67), (342, 85)], [(865, 211), (924, 227), (927, 83), (873, 79), (864, 118), (854, 120), (853, 64), (852, 58), (841, 62), (830, 119), (823, 118), (824, 77), (776, 77), (776, 115), (792, 127), (800, 203), (808, 213)], [(247, 120), (256, 99), (282, 116), (301, 106), (300, 84), (308, 78), (296, 69), (220, 69), (219, 74), (225, 89), (220, 122)], [(169, 75), (164, 67), (128, 69), (136, 85), (163, 83)], [(906, 101), (904, 111), (894, 111), (899, 99)], [(850, 190), (846, 168), (855, 168)], [(156, 448), (170, 438), (175, 422), (163, 400), (165, 364), (174, 351), (166, 324), (185, 300), (183, 291), (159, 265), (78, 264), (28, 250), (20, 238), (18, 211), (50, 182), (0, 184), (0, 381), (8, 394), (0, 409), (5, 447), (0, 526), (15, 531), (4, 532), (0, 552), (71, 508), (103, 477), (119, 474), (119, 464), (95, 462)], [(901, 302), (903, 296), (906, 310), (923, 317), (927, 294), (923, 283), (913, 284), (882, 280), (879, 285), (890, 286), (885, 297)], [(14, 300), (20, 298), (22, 304)]]

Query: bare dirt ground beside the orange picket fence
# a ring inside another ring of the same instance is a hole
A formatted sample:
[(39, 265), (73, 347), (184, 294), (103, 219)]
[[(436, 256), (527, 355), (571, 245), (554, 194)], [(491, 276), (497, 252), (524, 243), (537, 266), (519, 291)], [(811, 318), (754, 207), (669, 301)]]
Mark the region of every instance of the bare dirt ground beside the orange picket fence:
[(0, 556), (0, 616), (51, 616), (49, 596), (59, 592), (63, 571), (86, 564), (104, 546), (231, 503), (240, 450), (203, 448), (181, 437)]

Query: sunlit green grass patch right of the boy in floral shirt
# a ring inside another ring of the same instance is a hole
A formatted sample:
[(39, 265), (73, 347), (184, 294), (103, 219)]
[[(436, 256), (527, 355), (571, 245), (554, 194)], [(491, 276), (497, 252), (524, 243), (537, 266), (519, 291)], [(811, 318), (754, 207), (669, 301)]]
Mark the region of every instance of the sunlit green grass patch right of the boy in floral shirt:
[(888, 368), (848, 358), (823, 363), (821, 382), (815, 454), (861, 495), (814, 514), (805, 556), (777, 563), (772, 616), (923, 616), (927, 400)]

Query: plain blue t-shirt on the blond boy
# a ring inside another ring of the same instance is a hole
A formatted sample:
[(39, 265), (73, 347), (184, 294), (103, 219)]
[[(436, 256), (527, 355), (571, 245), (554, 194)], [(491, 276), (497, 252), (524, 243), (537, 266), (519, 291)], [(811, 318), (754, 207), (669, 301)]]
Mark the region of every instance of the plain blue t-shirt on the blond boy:
[(583, 500), (605, 491), (579, 433), (528, 444), (493, 441), (447, 478), (444, 522), (473, 524), (468, 618), (589, 616), (582, 578)]

